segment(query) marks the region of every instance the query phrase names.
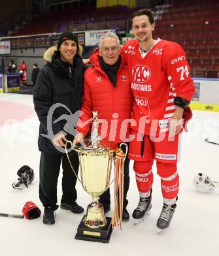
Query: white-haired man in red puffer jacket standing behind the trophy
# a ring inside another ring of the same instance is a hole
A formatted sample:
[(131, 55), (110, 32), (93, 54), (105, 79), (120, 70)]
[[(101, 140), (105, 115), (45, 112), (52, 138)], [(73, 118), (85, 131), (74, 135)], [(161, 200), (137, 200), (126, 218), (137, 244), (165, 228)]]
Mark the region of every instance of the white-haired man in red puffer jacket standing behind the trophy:
[[(93, 66), (84, 74), (84, 97), (74, 142), (79, 142), (87, 135), (92, 111), (97, 111), (98, 118), (104, 119), (99, 125), (101, 138), (112, 144), (126, 142), (129, 137), (129, 119), (131, 117), (133, 96), (128, 70), (124, 58), (120, 55), (120, 43), (115, 33), (101, 37), (99, 49), (90, 56)], [(124, 148), (122, 148), (124, 150)], [(123, 220), (129, 220), (127, 191), (129, 189), (129, 159), (124, 165), (124, 210)], [(100, 196), (105, 213), (110, 211), (110, 192)]]

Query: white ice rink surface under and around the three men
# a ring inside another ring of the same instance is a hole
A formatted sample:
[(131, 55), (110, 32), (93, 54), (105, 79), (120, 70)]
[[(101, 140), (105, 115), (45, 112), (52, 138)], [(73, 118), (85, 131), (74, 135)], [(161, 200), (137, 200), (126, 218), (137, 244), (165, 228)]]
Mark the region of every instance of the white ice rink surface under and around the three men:
[[(24, 104), (24, 111), (25, 105), (33, 108), (30, 95), (0, 95), (0, 102), (5, 101)], [(163, 201), (160, 178), (154, 165), (151, 215), (139, 225), (134, 225), (130, 218), (129, 222), (123, 223), (122, 232), (119, 228), (113, 230), (109, 244), (75, 240), (76, 228), (83, 214), (75, 215), (59, 208), (56, 224), (51, 226), (42, 224), (42, 215), (31, 221), (0, 217), (0, 255), (216, 255), (219, 249), (219, 191), (211, 194), (196, 192), (193, 179), (197, 173), (206, 173), (212, 180), (219, 181), (219, 146), (204, 141), (207, 137), (219, 140), (219, 113), (194, 111), (194, 119), (188, 129), (189, 133), (182, 135), (181, 160), (178, 163), (180, 192), (169, 230), (157, 234), (156, 221)], [(27, 201), (33, 201), (43, 211), (38, 196), (38, 130), (39, 121), (35, 115), (22, 121), (7, 121), (0, 127), (1, 213), (22, 214), (22, 207)], [(33, 168), (35, 180), (28, 189), (14, 190), (12, 182), (16, 180), (16, 171), (24, 164)], [(132, 166), (131, 162), (127, 207), (130, 215), (139, 201)], [(86, 208), (91, 197), (79, 182), (76, 187), (77, 202)], [(58, 203), (60, 198), (59, 180)], [(110, 215), (112, 210), (107, 213)]]

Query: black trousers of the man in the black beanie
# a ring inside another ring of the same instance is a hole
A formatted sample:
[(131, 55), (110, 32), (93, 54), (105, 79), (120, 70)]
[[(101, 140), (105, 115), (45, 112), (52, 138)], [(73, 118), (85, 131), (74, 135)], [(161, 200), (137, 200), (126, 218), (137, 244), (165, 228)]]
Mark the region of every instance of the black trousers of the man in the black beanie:
[[(71, 163), (78, 173), (79, 159), (78, 155), (69, 156)], [(44, 207), (52, 207), (54, 210), (58, 209), (57, 203), (57, 184), (59, 171), (62, 163), (62, 198), (61, 202), (75, 202), (76, 194), (76, 176), (71, 169), (69, 160), (65, 154), (49, 155), (41, 152), (40, 161), (40, 184), (39, 184), (39, 198)]]

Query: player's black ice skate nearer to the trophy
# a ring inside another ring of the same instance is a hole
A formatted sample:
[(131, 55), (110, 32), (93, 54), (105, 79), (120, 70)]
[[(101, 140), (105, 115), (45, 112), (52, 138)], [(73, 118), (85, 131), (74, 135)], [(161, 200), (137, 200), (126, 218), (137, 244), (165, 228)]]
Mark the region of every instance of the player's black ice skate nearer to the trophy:
[(149, 196), (148, 198), (140, 197), (139, 204), (132, 214), (132, 217), (134, 219), (134, 224), (137, 224), (140, 221), (143, 221), (146, 216), (150, 215), (151, 207), (152, 207), (151, 196)]

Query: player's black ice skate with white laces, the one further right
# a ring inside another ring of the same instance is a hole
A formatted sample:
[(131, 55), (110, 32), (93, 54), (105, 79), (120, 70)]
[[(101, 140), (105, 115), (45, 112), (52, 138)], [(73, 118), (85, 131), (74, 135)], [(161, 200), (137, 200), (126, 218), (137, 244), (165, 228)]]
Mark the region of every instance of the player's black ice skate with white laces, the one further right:
[(173, 218), (173, 213), (175, 212), (176, 207), (177, 207), (176, 203), (172, 205), (167, 205), (163, 203), (163, 208), (157, 222), (157, 227), (159, 228), (158, 232), (169, 227), (169, 224), (171, 223), (171, 219)]

